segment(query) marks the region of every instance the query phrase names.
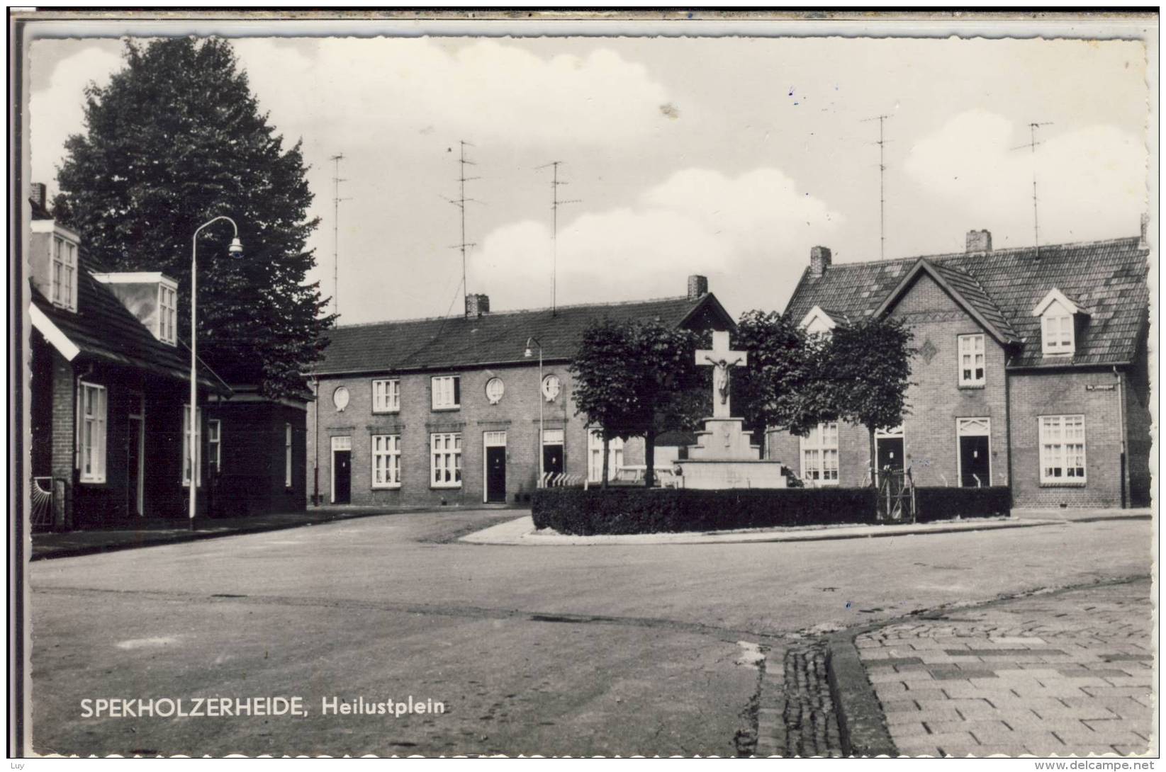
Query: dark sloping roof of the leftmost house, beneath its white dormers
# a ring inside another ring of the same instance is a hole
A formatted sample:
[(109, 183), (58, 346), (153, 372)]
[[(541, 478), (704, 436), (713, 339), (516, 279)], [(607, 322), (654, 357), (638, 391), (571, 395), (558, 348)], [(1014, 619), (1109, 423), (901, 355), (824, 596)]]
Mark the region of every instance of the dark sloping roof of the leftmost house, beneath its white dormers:
[[(190, 349), (154, 338), (106, 286), (92, 277), (93, 265), (84, 254), (78, 263), (76, 312), (58, 309), (40, 290), (31, 288), (33, 305), (38, 312), (33, 316), (34, 326), (41, 330), (45, 340), (70, 361), (90, 356), (189, 382)], [(37, 316), (48, 325), (37, 324)], [(198, 382), (218, 394), (230, 394), (205, 364), (199, 367)]]

